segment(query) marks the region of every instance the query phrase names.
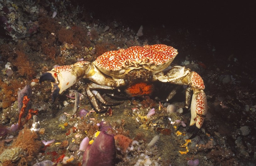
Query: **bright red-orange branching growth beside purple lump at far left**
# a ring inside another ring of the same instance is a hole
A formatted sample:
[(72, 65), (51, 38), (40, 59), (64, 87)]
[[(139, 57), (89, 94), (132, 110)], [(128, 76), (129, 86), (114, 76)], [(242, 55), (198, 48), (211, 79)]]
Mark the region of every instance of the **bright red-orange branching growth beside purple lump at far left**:
[(38, 114), (38, 110), (35, 110), (35, 111), (34, 111), (34, 109), (30, 109), (29, 112), (28, 112), (28, 114), (27, 114), (27, 116), (26, 116), (26, 118), (25, 118), (25, 121), (24, 121), (24, 122), (21, 122), (21, 118), (22, 118), (22, 117), (24, 116), (24, 114), (25, 114), (25, 108), (27, 107), (27, 104), (29, 103), (29, 101), (30, 101), (30, 98), (28, 98), (28, 96), (24, 96), (24, 97), (23, 97), (23, 101), (22, 101), (23, 106), (22, 106), (22, 108), (21, 108), (21, 110), (20, 110), (20, 113), (19, 113), (19, 120), (18, 120), (18, 128), (19, 128), (19, 129), (21, 129), (22, 126), (23, 126), (25, 123), (27, 123), (28, 120), (29, 120), (30, 118), (32, 118), (33, 115), (37, 115), (37, 114)]

